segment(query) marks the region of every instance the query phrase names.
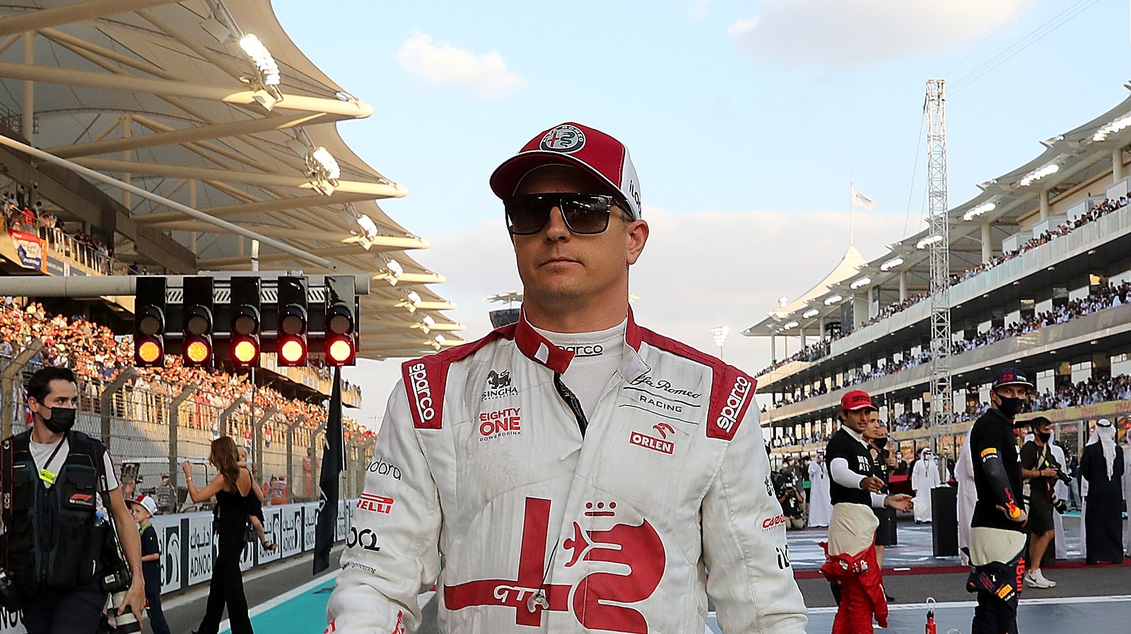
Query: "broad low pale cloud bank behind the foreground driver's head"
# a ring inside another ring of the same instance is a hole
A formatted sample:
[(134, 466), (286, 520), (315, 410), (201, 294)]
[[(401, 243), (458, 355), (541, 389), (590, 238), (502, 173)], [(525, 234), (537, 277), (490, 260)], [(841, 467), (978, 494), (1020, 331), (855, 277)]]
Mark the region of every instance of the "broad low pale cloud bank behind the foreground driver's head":
[[(729, 325), (726, 361), (750, 373), (769, 365), (769, 340), (740, 332), (761, 321), (778, 297), (797, 297), (823, 279), (848, 242), (848, 214), (840, 211), (676, 215), (646, 207), (644, 216), (651, 233), (630, 272), (630, 290), (640, 297), (632, 304), (637, 320), (709, 354), (718, 353), (710, 329)], [(865, 258), (879, 258), (887, 252), (886, 244), (903, 237), (904, 222), (856, 214), (856, 247)], [(486, 335), (487, 312), (501, 306), (483, 298), (521, 289), (502, 219), (431, 241), (432, 249), (414, 257), (448, 278), (434, 289), (459, 305), (449, 316), (467, 325), (460, 333), (467, 339)], [(779, 356), (787, 348), (796, 351), (797, 339), (778, 341)], [(366, 411), (383, 410), (398, 366), (396, 361), (369, 364), (364, 372), (347, 376), (362, 385)]]

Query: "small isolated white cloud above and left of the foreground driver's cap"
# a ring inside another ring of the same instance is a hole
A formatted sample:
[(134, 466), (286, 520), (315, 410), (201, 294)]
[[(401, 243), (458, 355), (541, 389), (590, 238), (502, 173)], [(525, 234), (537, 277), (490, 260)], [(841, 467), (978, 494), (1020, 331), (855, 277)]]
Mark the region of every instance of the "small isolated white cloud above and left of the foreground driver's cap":
[(447, 42), (433, 42), (426, 33), (413, 33), (397, 51), (397, 62), (424, 84), (455, 86), (485, 101), (526, 87), (520, 76), (507, 70), (507, 62), (499, 53), (457, 49)]

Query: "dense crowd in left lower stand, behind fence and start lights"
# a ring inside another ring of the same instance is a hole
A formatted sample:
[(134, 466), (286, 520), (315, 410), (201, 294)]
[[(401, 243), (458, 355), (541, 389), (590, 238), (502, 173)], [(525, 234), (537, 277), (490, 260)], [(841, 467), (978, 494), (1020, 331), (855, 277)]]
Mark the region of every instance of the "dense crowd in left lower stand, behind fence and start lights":
[[(36, 302), (19, 306), (12, 303), (11, 297), (6, 297), (0, 306), (0, 357), (15, 357), (35, 339), (43, 341), (43, 349), (32, 357), (28, 366), (72, 368), (80, 377), (83, 398), (92, 401), (101, 388), (133, 365), (130, 337), (115, 337), (110, 329), (85, 319), (49, 315)], [(317, 429), (326, 420), (327, 410), (321, 403), (291, 399), (266, 385), (257, 388), (247, 375), (184, 367), (180, 361), (180, 357), (170, 355), (163, 368), (136, 368), (128, 383), (132, 389), (121, 403), (124, 411), (119, 414), (137, 420), (167, 422), (165, 408), (169, 399), (180, 394), (185, 387), (196, 385), (191, 397), (192, 415), (182, 416), (181, 424), (210, 429), (216, 435), (231, 432), (250, 437), (252, 399), (254, 412), (259, 416), (271, 408), (277, 409), (275, 422), (278, 427), (290, 426), (303, 416), (303, 426), (309, 429)], [(242, 416), (233, 417), (236, 429), (219, 429), (221, 412), (241, 397), (244, 400), (235, 411)], [(347, 440), (369, 433), (365, 426), (346, 417), (343, 426)]]

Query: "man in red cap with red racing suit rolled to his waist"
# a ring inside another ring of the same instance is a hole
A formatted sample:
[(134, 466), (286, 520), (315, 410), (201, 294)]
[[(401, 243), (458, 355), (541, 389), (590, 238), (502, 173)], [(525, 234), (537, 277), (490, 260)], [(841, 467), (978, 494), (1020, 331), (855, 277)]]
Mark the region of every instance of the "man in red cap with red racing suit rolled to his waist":
[[(845, 393), (840, 398), (840, 428), (824, 449), (832, 479), (832, 520), (829, 540), (821, 544), (827, 554), (821, 573), (838, 597), (832, 634), (872, 632), (873, 614), (880, 627), (888, 626), (888, 601), (875, 555), (879, 520), (872, 507), (912, 509), (910, 496), (881, 494), (884, 481), (872, 475), (875, 464), (864, 435), (879, 433), (879, 419), (870, 416), (875, 409), (867, 392)], [(875, 428), (869, 429), (869, 425)]]

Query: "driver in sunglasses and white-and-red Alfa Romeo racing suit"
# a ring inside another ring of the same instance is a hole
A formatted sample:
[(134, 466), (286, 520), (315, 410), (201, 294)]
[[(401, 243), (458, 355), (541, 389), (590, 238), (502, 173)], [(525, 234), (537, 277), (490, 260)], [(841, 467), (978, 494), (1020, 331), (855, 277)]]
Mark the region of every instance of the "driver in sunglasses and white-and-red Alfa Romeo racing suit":
[(437, 582), (444, 632), (702, 632), (710, 597), (726, 633), (803, 633), (754, 380), (629, 310), (624, 146), (564, 123), (491, 185), (523, 315), (404, 364), (328, 629), (414, 631)]

